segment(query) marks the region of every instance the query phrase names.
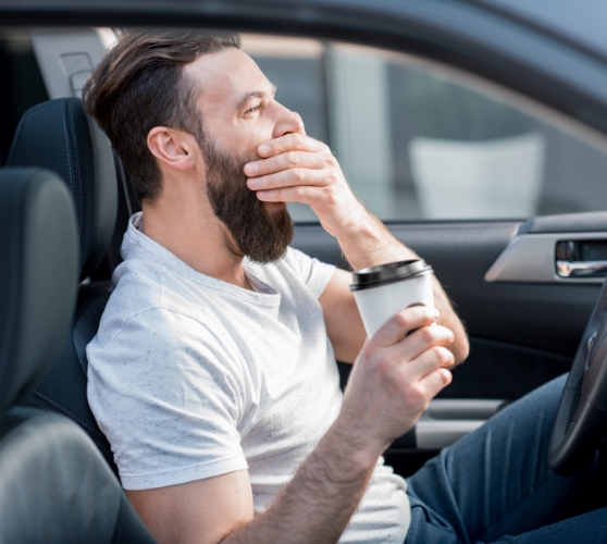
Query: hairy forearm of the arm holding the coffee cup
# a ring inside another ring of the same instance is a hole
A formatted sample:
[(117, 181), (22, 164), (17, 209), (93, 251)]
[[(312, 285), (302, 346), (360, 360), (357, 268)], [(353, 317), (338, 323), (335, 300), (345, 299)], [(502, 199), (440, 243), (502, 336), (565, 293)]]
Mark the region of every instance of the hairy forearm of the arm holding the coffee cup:
[(348, 443), (336, 422), (274, 504), (221, 544), (336, 543), (367, 489), (380, 454), (362, 454), (359, 445)]

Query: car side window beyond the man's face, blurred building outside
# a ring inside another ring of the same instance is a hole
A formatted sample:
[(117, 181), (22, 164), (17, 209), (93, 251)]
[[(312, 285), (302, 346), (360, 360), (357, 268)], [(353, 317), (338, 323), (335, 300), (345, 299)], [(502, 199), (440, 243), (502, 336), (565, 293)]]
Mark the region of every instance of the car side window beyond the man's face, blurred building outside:
[[(407, 54), (244, 36), (384, 221), (519, 219), (602, 210), (607, 153), (494, 85)], [(315, 221), (289, 205), (296, 222)]]

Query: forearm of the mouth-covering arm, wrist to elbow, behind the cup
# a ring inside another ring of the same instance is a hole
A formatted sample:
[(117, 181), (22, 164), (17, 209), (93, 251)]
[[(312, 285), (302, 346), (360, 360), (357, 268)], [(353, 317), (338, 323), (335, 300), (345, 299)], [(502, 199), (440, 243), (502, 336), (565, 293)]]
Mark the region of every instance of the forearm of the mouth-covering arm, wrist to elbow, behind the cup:
[[(387, 262), (419, 259), (413, 250), (400, 243), (380, 220), (364, 210), (362, 205), (357, 215), (356, 221), (335, 233), (342, 251), (354, 270)], [(450, 329), (456, 338), (449, 349), (454, 354), (457, 364), (468, 357), (468, 336), (447, 294), (435, 276), (433, 286), (434, 305), (441, 312), (438, 323)]]

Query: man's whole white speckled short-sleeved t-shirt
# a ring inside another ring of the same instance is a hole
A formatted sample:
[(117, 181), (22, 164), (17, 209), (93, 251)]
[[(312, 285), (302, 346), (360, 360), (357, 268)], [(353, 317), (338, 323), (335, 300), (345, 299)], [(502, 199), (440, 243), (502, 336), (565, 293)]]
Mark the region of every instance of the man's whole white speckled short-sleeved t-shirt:
[[(87, 347), (88, 401), (122, 484), (147, 490), (249, 470), (274, 500), (342, 406), (319, 296), (334, 268), (295, 249), (245, 261), (250, 292), (190, 269), (129, 222), (115, 290)], [(380, 459), (340, 543), (402, 544), (405, 481)]]

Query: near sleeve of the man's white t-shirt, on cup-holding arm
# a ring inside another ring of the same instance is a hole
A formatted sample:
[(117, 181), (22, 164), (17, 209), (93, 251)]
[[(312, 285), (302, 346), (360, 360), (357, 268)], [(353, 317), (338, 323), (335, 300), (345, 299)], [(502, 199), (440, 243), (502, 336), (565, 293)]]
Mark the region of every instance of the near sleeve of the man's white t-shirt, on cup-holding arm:
[(237, 431), (241, 366), (223, 341), (191, 318), (153, 309), (107, 344), (98, 335), (88, 345), (89, 405), (125, 489), (248, 468)]

